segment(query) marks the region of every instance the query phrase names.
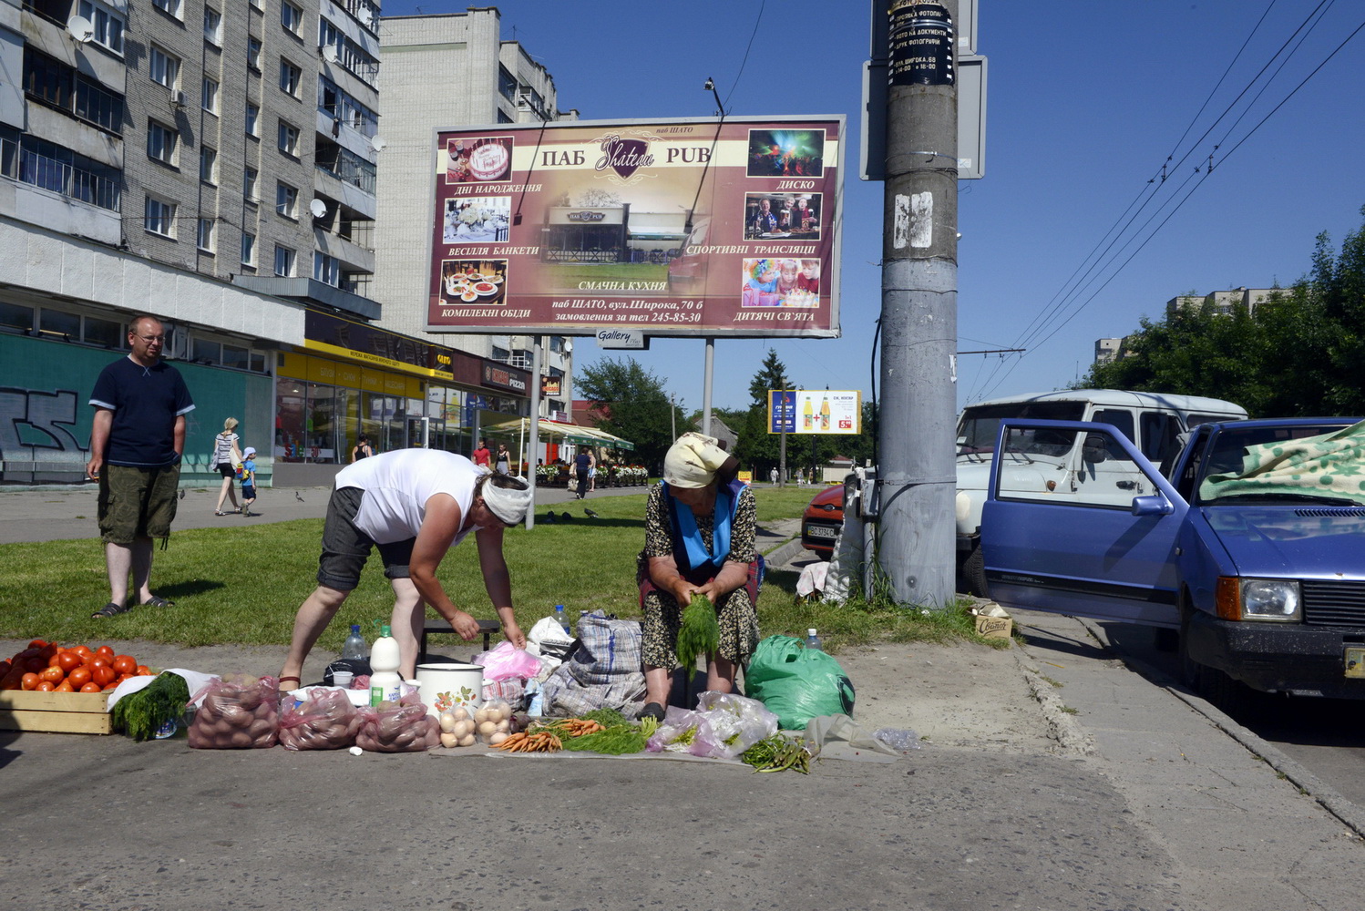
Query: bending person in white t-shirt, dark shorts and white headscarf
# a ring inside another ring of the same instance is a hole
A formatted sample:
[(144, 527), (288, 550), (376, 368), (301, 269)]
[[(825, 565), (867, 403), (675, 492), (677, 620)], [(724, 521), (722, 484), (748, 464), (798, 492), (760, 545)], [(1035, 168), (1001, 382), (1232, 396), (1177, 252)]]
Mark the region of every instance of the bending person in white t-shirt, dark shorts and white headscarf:
[(379, 550), (393, 588), (390, 626), (399, 641), (399, 670), (416, 672), (418, 637), (426, 608), (449, 621), (465, 641), (479, 623), (461, 611), (437, 578), (452, 547), (474, 532), (483, 588), (502, 621), (502, 634), (517, 648), (526, 636), (512, 610), (512, 580), (502, 556), (502, 532), (520, 524), (531, 506), (530, 486), (516, 477), (489, 475), (464, 455), (435, 449), (384, 453), (337, 472), (322, 528), (318, 586), (299, 607), (281, 689), (298, 687), (303, 661), (347, 596), (360, 584), (371, 548)]

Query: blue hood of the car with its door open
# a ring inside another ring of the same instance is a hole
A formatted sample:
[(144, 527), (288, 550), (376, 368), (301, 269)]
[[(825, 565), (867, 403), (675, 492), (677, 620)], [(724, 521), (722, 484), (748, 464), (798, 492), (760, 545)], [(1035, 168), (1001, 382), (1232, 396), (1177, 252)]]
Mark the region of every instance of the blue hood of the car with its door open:
[(1365, 576), (1365, 507), (1201, 506), (1242, 576)]

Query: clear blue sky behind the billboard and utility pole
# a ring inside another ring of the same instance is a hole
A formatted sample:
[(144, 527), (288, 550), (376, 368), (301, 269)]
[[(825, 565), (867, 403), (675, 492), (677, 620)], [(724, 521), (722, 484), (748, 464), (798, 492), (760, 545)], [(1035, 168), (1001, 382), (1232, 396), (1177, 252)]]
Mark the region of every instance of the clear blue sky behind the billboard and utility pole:
[[(384, 12), (467, 5), (388, 0)], [(770, 344), (797, 385), (860, 389), (867, 397), (880, 312), (883, 191), (857, 179), (871, 4), (495, 5), (504, 40), (521, 41), (554, 76), (560, 106), (577, 108), (584, 119), (711, 116), (707, 76), (732, 115), (848, 117), (844, 335), (718, 340), (713, 405), (748, 405), (749, 380)], [(990, 61), (986, 177), (958, 183), (958, 349), (1028, 352), (962, 357), (958, 404), (1065, 386), (1085, 372), (1096, 338), (1133, 331), (1141, 316), (1160, 316), (1171, 297), (1287, 286), (1308, 271), (1320, 232), (1339, 247), (1360, 228), (1365, 30), (1347, 38), (1362, 23), (1358, 0), (980, 0), (976, 52)], [(1286, 41), (1287, 61), (1286, 53), (1274, 56)], [(1166, 183), (1149, 184), (1173, 150)], [(1194, 173), (1209, 154), (1212, 173)], [(1148, 196), (1104, 254), (1107, 232)], [(584, 338), (575, 348), (576, 368), (603, 355), (621, 353), (599, 353)], [(633, 356), (688, 409), (702, 406), (700, 340), (655, 340)]]

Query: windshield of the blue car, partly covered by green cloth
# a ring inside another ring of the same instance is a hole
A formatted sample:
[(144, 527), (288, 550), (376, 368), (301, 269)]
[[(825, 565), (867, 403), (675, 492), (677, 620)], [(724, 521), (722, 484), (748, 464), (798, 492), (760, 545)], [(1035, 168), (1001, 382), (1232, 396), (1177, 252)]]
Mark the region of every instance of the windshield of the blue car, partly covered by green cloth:
[[(1332, 491), (1324, 491), (1320, 487), (1317, 475), (1304, 480), (1297, 473), (1282, 472), (1279, 473), (1282, 476), (1278, 479), (1267, 479), (1267, 473), (1274, 472), (1268, 472), (1265, 466), (1256, 469), (1259, 460), (1248, 458), (1248, 450), (1260, 446), (1335, 434), (1349, 425), (1347, 421), (1340, 421), (1332, 424), (1230, 427), (1222, 430), (1213, 435), (1213, 439), (1201, 457), (1203, 464), (1200, 465), (1200, 484), (1196, 488), (1198, 491), (1196, 502), (1198, 505), (1215, 503), (1223, 506), (1233, 502), (1246, 505), (1252, 501), (1268, 503), (1313, 502), (1353, 505), (1355, 503), (1353, 499), (1345, 499), (1334, 495)], [(1248, 473), (1249, 468), (1253, 471), (1248, 476), (1256, 476), (1260, 480), (1254, 481), (1254, 484), (1249, 481), (1233, 481), (1233, 479)]]

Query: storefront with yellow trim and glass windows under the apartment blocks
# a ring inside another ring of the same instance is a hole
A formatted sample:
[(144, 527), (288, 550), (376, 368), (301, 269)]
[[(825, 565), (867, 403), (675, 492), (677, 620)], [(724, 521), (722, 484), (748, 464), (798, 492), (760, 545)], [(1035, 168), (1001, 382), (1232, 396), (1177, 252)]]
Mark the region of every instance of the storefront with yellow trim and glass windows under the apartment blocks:
[(347, 462), (360, 434), (470, 453), (476, 424), (527, 413), (527, 371), (311, 311), (304, 337), (276, 360), (277, 460)]

